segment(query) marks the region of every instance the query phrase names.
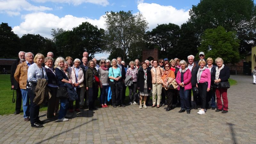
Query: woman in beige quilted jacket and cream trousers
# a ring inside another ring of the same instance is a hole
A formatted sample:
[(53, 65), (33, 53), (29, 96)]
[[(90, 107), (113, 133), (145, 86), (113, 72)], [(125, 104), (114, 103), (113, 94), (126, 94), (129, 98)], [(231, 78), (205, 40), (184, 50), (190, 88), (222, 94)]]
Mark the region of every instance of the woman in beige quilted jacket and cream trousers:
[[(158, 61), (153, 60), (153, 66), (151, 68), (151, 75), (152, 75), (152, 100), (153, 105), (152, 108), (160, 108), (160, 102), (161, 102), (161, 94), (162, 94), (162, 82), (161, 82), (161, 76), (164, 72), (163, 68), (160, 68), (158, 66)], [(156, 106), (156, 93), (157, 93), (157, 106)]]

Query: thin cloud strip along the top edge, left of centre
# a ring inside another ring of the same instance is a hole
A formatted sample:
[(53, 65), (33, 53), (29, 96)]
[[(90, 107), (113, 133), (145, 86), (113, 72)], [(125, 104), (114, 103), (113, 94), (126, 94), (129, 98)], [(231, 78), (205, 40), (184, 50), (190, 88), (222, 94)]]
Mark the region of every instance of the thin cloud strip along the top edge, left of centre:
[(109, 4), (108, 0), (33, 0), (33, 1), (39, 2), (39, 3), (45, 3), (45, 2), (68, 3), (73, 5), (80, 5), (82, 3), (92, 3), (92, 4), (107, 6)]

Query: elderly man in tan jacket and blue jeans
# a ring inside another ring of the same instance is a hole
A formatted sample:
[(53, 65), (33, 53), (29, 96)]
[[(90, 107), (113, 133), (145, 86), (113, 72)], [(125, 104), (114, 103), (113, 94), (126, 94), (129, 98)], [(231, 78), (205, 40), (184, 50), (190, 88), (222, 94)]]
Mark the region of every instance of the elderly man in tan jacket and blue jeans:
[(24, 112), (24, 121), (29, 121), (29, 98), (27, 92), (27, 79), (28, 79), (28, 67), (33, 64), (34, 55), (31, 52), (25, 54), (26, 61), (22, 62), (17, 66), (14, 74), (15, 80), (20, 84), (20, 91), (22, 94), (22, 108)]

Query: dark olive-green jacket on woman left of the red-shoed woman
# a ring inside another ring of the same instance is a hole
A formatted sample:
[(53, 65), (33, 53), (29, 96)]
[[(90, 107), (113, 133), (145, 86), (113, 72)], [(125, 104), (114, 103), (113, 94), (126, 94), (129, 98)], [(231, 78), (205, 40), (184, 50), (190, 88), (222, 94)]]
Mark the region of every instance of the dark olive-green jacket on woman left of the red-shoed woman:
[[(93, 71), (94, 71), (94, 73), (93, 73)], [(93, 68), (93, 69), (88, 68), (86, 70), (86, 73), (85, 73), (86, 87), (92, 88), (92, 86), (98, 86), (99, 85), (97, 82), (95, 82), (94, 74), (96, 76), (99, 76), (98, 71), (96, 70), (96, 68)]]

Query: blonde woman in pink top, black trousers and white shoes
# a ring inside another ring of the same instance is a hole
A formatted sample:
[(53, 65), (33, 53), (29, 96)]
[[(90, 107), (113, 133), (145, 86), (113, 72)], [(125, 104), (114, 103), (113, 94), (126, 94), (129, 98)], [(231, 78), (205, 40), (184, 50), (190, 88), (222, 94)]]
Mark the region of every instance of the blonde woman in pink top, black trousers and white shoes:
[(206, 112), (205, 105), (206, 105), (206, 95), (207, 92), (210, 91), (211, 86), (211, 72), (208, 68), (205, 67), (206, 62), (204, 60), (199, 60), (198, 65), (200, 68), (197, 72), (197, 84), (199, 95), (201, 97), (202, 107), (197, 112), (197, 114), (204, 114)]

